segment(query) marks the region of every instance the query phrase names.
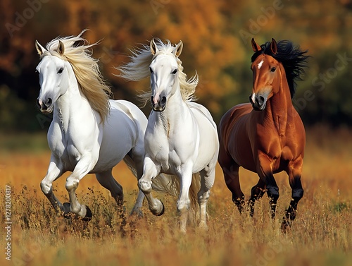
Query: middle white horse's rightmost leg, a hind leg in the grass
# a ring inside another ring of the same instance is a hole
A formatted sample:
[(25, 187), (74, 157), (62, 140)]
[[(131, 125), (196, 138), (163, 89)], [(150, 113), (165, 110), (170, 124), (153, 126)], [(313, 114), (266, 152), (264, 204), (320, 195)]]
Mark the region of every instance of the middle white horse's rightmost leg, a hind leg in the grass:
[(199, 207), (201, 208), (201, 221), (199, 227), (201, 229), (208, 229), (206, 225), (206, 204), (210, 196), (210, 188), (213, 187), (215, 181), (215, 165), (213, 167), (206, 167), (201, 171), (201, 189), (198, 193)]

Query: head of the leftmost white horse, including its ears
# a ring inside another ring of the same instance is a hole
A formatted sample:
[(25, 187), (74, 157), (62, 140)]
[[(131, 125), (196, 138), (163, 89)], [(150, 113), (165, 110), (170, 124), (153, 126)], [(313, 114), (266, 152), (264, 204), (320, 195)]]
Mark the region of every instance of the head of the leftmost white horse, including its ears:
[[(35, 47), (42, 60), (36, 71), (39, 73), (40, 92), (37, 104), (43, 113), (51, 113), (56, 100), (68, 90), (68, 71), (73, 71), (72, 66), (58, 56), (51, 55), (39, 42)], [(65, 47), (58, 41), (58, 54), (63, 55)]]

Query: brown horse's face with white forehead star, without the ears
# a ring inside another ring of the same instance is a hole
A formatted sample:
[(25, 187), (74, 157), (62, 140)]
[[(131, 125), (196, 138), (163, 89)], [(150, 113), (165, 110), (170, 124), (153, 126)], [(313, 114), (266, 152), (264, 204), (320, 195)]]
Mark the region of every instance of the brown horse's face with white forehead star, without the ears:
[(253, 109), (265, 109), (266, 102), (279, 91), (279, 62), (266, 54), (260, 54), (251, 65), (253, 90), (249, 97)]

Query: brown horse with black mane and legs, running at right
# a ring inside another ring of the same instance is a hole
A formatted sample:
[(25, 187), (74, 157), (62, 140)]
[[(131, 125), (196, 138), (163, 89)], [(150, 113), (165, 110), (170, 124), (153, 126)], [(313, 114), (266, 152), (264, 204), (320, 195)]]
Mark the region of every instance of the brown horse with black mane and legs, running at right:
[(261, 46), (252, 39), (253, 90), (251, 104), (239, 104), (222, 116), (219, 126), (219, 163), (224, 172), (232, 201), (242, 212), (244, 193), (239, 185), (239, 167), (256, 172), (259, 181), (251, 190), (249, 211), (265, 191), (270, 212), (275, 217), (279, 188), (273, 174), (286, 171), (292, 198), (283, 228), (296, 217), (297, 203), (303, 197), (301, 173), (306, 133), (291, 102), (295, 81), (301, 80), (306, 52), (291, 42), (267, 42)]

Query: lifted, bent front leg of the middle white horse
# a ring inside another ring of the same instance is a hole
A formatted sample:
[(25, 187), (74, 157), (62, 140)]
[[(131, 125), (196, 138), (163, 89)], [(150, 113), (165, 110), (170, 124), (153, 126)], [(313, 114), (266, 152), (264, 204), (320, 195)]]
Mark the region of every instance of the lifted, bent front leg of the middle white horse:
[(160, 167), (157, 167), (149, 157), (145, 157), (143, 175), (142, 178), (138, 181), (138, 187), (146, 196), (149, 210), (151, 210), (154, 215), (160, 216), (164, 213), (163, 202), (153, 198), (153, 195), (151, 195), (151, 180), (158, 174), (160, 174)]

